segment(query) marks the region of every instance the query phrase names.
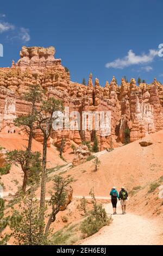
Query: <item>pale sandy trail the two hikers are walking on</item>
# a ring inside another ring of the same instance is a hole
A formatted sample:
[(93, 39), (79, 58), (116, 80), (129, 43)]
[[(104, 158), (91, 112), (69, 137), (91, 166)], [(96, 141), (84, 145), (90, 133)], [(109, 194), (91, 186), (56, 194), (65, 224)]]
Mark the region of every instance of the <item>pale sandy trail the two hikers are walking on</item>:
[[(111, 204), (104, 205), (108, 214), (112, 214)], [(118, 203), (117, 215), (113, 221), (95, 235), (85, 239), (82, 245), (161, 245), (161, 229), (155, 221), (135, 214), (121, 214)]]

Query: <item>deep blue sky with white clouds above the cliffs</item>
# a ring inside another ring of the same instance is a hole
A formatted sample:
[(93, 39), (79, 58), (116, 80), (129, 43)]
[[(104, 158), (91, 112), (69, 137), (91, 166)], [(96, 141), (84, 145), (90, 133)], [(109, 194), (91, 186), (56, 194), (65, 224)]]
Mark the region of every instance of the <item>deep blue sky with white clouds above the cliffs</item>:
[(92, 72), (101, 86), (113, 75), (118, 83), (124, 75), (163, 83), (162, 10), (162, 0), (3, 1), (0, 66), (17, 61), (22, 45), (52, 45), (72, 81), (87, 80)]

